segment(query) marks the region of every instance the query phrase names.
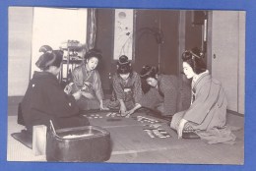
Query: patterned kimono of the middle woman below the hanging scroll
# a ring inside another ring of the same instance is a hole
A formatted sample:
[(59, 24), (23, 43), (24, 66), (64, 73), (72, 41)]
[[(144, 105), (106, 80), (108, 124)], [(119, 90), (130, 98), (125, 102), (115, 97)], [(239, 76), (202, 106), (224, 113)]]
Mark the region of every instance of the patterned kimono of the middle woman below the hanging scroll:
[(109, 101), (109, 108), (120, 108), (118, 99), (122, 99), (128, 110), (132, 109), (142, 97), (141, 78), (138, 73), (133, 72), (124, 81), (118, 74), (113, 76), (113, 94)]

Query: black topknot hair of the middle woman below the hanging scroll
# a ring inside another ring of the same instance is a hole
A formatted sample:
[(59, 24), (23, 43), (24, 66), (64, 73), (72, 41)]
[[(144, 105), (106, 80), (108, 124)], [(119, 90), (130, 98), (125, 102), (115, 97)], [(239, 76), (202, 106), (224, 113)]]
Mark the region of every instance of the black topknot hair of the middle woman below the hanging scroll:
[(119, 60), (117, 61), (117, 71), (116, 73), (118, 75), (120, 74), (132, 74), (132, 66), (131, 66), (131, 62), (129, 61), (128, 57), (125, 55), (122, 55), (119, 57)]

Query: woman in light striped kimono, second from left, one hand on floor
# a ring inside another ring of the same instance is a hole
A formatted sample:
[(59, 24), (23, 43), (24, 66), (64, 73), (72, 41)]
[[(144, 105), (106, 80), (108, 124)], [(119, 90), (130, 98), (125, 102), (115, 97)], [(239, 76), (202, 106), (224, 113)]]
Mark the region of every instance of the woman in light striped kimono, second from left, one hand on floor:
[(81, 110), (107, 109), (103, 106), (103, 91), (99, 74), (96, 71), (100, 59), (100, 52), (94, 49), (89, 50), (85, 55), (85, 62), (72, 72), (74, 82), (72, 91), (82, 91), (82, 96), (77, 101)]

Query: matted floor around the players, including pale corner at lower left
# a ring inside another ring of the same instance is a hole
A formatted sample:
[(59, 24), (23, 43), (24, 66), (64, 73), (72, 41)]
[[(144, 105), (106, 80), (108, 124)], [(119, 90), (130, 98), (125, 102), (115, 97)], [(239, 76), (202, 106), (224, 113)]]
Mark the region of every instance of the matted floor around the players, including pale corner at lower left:
[[(8, 117), (8, 161), (45, 161), (45, 156), (33, 156), (32, 150), (15, 141), (10, 134), (19, 132), (22, 126), (16, 123), (17, 106), (9, 103)], [(92, 125), (100, 126), (110, 132), (113, 149), (107, 162), (113, 163), (186, 163), (186, 164), (243, 164), (244, 162), (244, 130), (243, 117), (227, 115), (231, 126), (240, 127), (234, 132), (237, 136), (235, 144), (208, 144), (201, 140), (178, 140), (177, 135), (168, 127), (168, 123), (160, 120), (161, 128), (171, 138), (150, 138), (143, 128), (145, 124), (134, 118), (121, 118), (109, 121), (106, 113), (99, 113), (102, 118), (92, 118)], [(145, 115), (137, 113), (137, 115)], [(150, 116), (147, 116), (150, 117)], [(108, 121), (107, 121), (108, 120)]]

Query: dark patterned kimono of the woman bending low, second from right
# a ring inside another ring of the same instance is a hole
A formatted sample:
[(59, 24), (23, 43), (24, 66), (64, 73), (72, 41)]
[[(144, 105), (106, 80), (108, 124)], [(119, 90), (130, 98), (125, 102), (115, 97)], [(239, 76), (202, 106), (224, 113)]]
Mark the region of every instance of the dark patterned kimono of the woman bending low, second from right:
[(141, 98), (139, 104), (160, 112), (163, 116), (172, 116), (189, 107), (190, 87), (176, 76), (159, 75), (158, 88), (151, 87)]

